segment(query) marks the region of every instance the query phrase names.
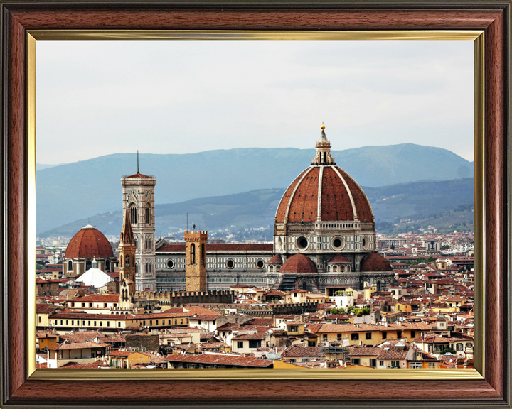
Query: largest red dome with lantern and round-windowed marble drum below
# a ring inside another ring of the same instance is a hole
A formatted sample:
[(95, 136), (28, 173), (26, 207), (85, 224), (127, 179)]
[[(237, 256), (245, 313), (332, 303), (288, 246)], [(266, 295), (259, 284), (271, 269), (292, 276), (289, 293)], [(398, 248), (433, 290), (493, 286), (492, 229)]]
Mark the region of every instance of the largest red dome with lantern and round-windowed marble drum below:
[(336, 165), (325, 126), (316, 156), (284, 192), (274, 222), (275, 253), (370, 253), (375, 218), (361, 186)]

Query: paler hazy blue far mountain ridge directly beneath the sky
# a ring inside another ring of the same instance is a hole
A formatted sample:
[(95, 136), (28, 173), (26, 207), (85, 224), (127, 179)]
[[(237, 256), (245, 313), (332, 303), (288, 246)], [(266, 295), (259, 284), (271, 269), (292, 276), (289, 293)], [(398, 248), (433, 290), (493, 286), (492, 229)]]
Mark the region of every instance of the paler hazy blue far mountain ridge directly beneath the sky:
[[(474, 163), (441, 148), (405, 143), (332, 152), (363, 186), (474, 175)], [(285, 188), (314, 157), (314, 149), (238, 148), (182, 155), (140, 155), (140, 171), (156, 176), (156, 203)], [(56, 165), (37, 172), (37, 231), (121, 208), (122, 175), (137, 172), (134, 153)], [(116, 233), (117, 234), (117, 233)]]

